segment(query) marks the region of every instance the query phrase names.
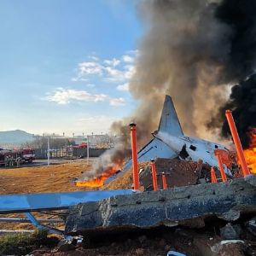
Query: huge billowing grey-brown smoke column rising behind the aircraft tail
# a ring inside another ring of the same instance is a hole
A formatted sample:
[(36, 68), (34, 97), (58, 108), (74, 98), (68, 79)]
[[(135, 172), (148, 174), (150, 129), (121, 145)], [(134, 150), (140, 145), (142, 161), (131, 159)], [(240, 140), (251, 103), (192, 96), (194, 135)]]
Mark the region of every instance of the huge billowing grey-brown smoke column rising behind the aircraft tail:
[(129, 84), (138, 107), (113, 123), (112, 130), (123, 137), (116, 150), (102, 156), (105, 166), (101, 159), (96, 173), (130, 156), (130, 121), (137, 123), (138, 145), (148, 141), (166, 94), (186, 134), (209, 140), (224, 135), (219, 109), (229, 101), (230, 85), (255, 70), (255, 11), (253, 0), (142, 1), (138, 15), (146, 31)]

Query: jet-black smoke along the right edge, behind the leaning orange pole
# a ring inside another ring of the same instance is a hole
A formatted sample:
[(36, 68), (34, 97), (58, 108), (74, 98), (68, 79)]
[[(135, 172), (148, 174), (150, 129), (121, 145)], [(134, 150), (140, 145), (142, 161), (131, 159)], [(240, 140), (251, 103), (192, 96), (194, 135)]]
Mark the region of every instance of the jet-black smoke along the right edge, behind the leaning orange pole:
[(238, 82), (231, 88), (230, 99), (212, 118), (209, 127), (221, 127), (223, 137), (230, 137), (224, 118), (225, 109), (233, 111), (241, 143), (247, 148), (248, 131), (256, 127), (256, 1), (224, 0), (216, 9), (216, 17), (230, 26), (230, 54), (224, 65), (224, 83)]

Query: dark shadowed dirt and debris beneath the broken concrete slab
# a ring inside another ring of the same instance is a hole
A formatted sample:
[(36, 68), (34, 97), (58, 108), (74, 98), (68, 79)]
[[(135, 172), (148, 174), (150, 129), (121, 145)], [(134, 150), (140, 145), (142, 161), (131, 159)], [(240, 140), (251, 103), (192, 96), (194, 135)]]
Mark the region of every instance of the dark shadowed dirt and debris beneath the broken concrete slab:
[[(140, 230), (139, 232), (120, 233), (96, 237), (94, 241), (73, 247), (41, 247), (34, 250), (33, 256), (162, 256), (168, 251), (184, 253), (186, 256), (245, 256), (255, 255), (253, 241), (248, 234), (243, 234), (246, 244), (242, 242), (228, 243), (221, 246), (222, 238), (216, 234), (218, 224), (210, 224), (203, 230), (191, 230), (185, 228), (160, 228)], [(250, 246), (247, 244), (250, 243)], [(218, 247), (215, 251), (215, 248)], [(171, 254), (174, 255), (174, 254)]]

